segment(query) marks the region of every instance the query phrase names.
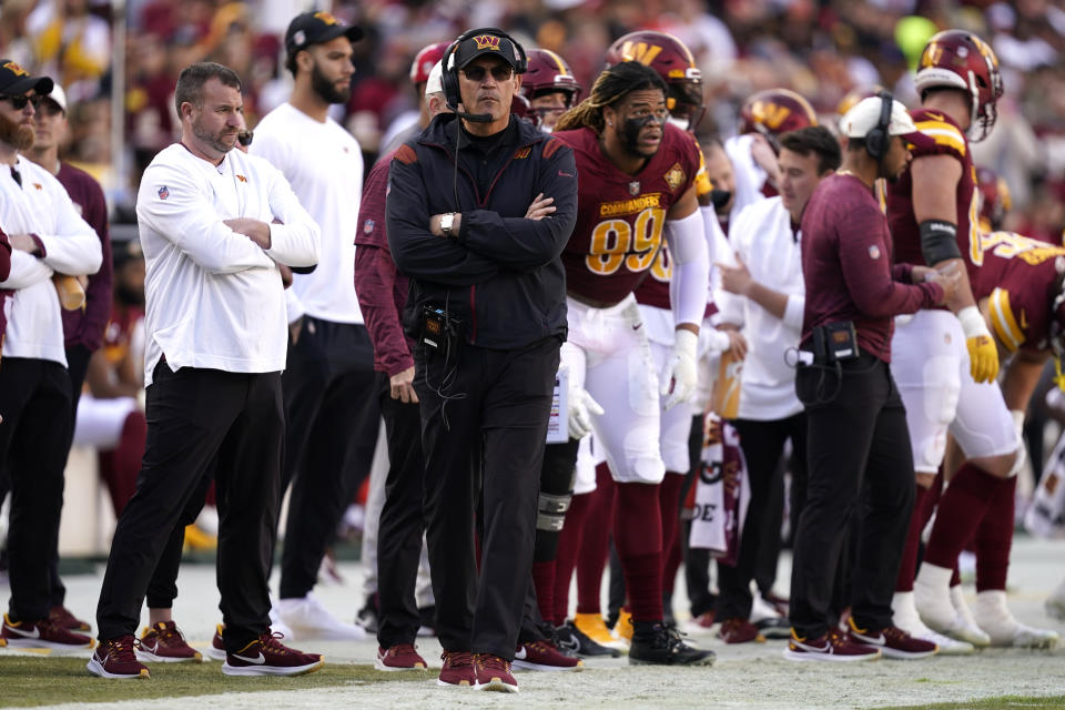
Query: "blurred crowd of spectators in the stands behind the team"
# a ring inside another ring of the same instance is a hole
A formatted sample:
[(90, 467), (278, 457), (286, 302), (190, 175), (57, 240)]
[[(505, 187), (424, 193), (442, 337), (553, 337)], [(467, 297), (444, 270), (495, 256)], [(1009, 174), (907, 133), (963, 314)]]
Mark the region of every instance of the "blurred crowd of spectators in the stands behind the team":
[[(175, 140), (172, 92), (200, 60), (236, 70), (245, 110), (258, 116), (288, 95), (281, 38), (306, 0), (3, 0), (0, 55), (53, 77), (71, 103), (64, 156), (104, 185), (112, 220), (126, 221), (140, 170)], [(909, 104), (926, 39), (942, 28), (988, 38), (1005, 97), (976, 162), (1013, 196), (1005, 227), (1057, 242), (1065, 226), (1065, 0), (318, 0), (362, 26), (351, 102), (336, 118), (366, 153), (367, 170), (397, 118), (417, 108), (407, 77), (424, 45), (497, 26), (527, 47), (560, 53), (586, 88), (613, 39), (636, 29), (677, 34), (699, 62), (707, 112), (699, 133), (727, 138), (754, 91), (784, 87), (825, 120), (855, 89), (883, 85)], [(115, 95), (121, 94), (121, 95)], [(586, 94), (587, 95), (587, 94)], [(115, 114), (121, 111), (121, 123)], [(121, 144), (115, 144), (118, 136)]]

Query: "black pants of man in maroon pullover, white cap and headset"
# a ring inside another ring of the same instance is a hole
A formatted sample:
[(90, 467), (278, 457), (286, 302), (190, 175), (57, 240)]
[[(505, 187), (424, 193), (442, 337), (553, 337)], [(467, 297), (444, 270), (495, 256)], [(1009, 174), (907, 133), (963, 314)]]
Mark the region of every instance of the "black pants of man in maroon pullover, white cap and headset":
[[(816, 396), (822, 372), (799, 371), (800, 399)], [(862, 355), (843, 363), (838, 388), (835, 373), (824, 372), (824, 381), (822, 394), (838, 394), (807, 406), (810, 478), (791, 575), (791, 622), (810, 637), (830, 623), (832, 585), (855, 509), (861, 531), (851, 577), (854, 621), (873, 630), (891, 626), (914, 494), (906, 410), (888, 364)]]

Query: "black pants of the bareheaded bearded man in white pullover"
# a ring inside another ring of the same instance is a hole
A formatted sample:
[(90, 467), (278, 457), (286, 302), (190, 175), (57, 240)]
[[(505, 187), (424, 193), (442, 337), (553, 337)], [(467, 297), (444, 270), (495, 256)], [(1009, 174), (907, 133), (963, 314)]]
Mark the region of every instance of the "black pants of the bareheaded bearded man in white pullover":
[(163, 549), (216, 458), (217, 582), (225, 646), (270, 628), (267, 576), (277, 520), (284, 412), (281, 373), (160, 363), (148, 388), (144, 463), (111, 542), (97, 625), (102, 641), (134, 633)]

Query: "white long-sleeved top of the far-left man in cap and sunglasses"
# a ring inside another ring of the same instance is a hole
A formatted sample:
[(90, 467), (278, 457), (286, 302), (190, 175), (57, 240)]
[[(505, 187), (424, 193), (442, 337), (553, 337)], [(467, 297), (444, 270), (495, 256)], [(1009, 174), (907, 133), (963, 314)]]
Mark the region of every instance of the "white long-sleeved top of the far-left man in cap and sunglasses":
[(100, 237), (50, 172), (21, 155), (14, 169), (21, 186), (8, 165), (0, 166), (0, 227), (8, 234), (36, 234), (44, 255), (11, 252), (11, 273), (0, 282), (0, 288), (14, 290), (3, 304), (8, 320), (3, 356), (48, 359), (65, 367), (63, 318), (52, 274), (97, 273)]

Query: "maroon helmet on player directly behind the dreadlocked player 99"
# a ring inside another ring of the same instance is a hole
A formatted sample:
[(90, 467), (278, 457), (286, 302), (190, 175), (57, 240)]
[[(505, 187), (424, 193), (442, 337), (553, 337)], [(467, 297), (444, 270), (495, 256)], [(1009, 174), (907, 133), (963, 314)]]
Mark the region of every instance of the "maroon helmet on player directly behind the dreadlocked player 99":
[(637, 61), (658, 72), (669, 93), (666, 108), (670, 115), (688, 121), (694, 131), (702, 120), (702, 72), (696, 65), (691, 50), (679, 39), (666, 32), (640, 30), (619, 38), (607, 50), (607, 68), (621, 62)]

